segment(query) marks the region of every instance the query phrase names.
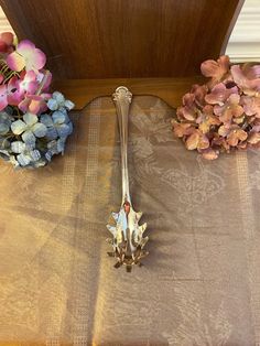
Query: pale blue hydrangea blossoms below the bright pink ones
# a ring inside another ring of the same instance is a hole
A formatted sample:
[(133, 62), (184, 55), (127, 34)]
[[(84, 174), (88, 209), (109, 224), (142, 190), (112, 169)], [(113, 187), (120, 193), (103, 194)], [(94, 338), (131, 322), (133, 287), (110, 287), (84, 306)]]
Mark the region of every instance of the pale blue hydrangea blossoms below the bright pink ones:
[(48, 110), (39, 116), (12, 115), (11, 107), (0, 111), (0, 156), (14, 167), (40, 167), (53, 155), (64, 153), (66, 139), (73, 132), (67, 112), (74, 104), (57, 91), (52, 99)]

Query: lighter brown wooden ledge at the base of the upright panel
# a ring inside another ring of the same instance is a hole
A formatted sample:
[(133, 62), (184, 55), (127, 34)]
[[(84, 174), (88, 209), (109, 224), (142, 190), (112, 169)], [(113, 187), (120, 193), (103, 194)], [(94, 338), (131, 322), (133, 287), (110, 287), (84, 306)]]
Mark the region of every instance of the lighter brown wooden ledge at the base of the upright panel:
[(193, 84), (203, 83), (201, 76), (186, 78), (130, 78), (130, 79), (64, 79), (53, 83), (53, 90), (62, 91), (75, 105), (83, 109), (91, 100), (101, 96), (111, 96), (118, 86), (126, 86), (133, 96), (152, 95), (176, 108), (182, 97)]

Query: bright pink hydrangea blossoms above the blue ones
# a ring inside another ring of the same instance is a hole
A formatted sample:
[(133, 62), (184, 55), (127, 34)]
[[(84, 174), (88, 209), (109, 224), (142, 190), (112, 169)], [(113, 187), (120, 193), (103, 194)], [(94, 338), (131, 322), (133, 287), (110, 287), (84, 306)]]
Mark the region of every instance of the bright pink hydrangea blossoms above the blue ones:
[(8, 105), (39, 115), (47, 109), (52, 75), (43, 69), (45, 54), (28, 40), (17, 47), (12, 33), (0, 35), (0, 111)]

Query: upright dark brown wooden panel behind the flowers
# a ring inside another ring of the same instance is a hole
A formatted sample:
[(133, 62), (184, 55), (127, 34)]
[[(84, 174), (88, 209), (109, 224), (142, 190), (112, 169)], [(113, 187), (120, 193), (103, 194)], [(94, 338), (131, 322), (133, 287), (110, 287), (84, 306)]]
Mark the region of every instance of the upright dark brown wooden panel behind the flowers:
[[(1, 0), (57, 78), (178, 77), (225, 46), (240, 0)], [(224, 44), (224, 45), (223, 45)]]

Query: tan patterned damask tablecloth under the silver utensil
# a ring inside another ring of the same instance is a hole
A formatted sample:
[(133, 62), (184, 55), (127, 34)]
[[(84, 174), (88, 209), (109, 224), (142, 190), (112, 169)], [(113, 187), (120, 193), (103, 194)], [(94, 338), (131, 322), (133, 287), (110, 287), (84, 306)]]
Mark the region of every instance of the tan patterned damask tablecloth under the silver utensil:
[(133, 98), (130, 187), (150, 255), (131, 273), (106, 255), (121, 201), (110, 98), (74, 113), (47, 167), (0, 164), (0, 345), (260, 345), (260, 151), (204, 161), (172, 116)]

